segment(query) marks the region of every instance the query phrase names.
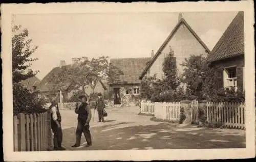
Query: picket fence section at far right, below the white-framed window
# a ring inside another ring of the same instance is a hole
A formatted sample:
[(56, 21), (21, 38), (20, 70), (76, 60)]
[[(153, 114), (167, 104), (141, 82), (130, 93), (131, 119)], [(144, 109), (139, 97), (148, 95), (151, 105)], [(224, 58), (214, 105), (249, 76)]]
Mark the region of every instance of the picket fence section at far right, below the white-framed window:
[(207, 121), (231, 128), (245, 128), (245, 103), (207, 102)]

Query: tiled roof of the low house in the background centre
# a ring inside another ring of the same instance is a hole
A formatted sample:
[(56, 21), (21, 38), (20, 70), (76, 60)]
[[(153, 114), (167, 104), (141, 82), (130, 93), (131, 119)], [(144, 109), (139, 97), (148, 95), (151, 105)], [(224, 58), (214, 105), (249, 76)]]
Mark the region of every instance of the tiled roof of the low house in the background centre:
[(151, 58), (110, 59), (110, 63), (122, 71), (121, 83), (139, 84), (139, 76), (150, 60)]

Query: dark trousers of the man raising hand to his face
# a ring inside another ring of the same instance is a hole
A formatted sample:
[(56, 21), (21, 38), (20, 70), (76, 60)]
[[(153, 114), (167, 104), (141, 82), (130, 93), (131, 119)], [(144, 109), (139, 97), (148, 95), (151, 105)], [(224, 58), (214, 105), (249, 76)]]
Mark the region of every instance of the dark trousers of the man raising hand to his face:
[(86, 122), (78, 120), (77, 122), (77, 128), (76, 128), (76, 145), (81, 144), (81, 136), (82, 132), (84, 137), (86, 138), (87, 144), (91, 145), (92, 144), (92, 137), (91, 137), (91, 132), (89, 130), (90, 125), (84, 125)]

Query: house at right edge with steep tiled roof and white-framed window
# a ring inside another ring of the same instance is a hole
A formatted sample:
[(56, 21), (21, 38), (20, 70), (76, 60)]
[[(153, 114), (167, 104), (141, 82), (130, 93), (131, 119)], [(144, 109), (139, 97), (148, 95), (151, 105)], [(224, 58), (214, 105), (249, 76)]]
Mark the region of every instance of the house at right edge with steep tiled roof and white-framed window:
[(244, 12), (240, 11), (212, 49), (206, 61), (218, 68), (219, 88), (244, 86)]

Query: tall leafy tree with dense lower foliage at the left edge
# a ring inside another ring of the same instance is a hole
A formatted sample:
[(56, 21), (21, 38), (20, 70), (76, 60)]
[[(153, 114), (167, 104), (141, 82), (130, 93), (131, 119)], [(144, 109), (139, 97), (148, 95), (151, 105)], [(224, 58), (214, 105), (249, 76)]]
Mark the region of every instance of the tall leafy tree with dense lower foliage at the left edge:
[(31, 62), (37, 58), (31, 55), (37, 46), (31, 48), (32, 39), (28, 38), (27, 29), (21, 31), (21, 26), (12, 26), (12, 89), (13, 89), (13, 113), (36, 113), (45, 111), (43, 109), (44, 100), (37, 99), (37, 93), (31, 93), (23, 88), (20, 81), (35, 76), (37, 71), (27, 69), (32, 65)]

